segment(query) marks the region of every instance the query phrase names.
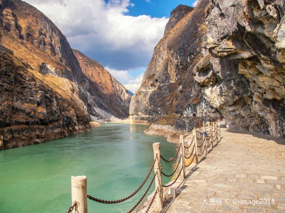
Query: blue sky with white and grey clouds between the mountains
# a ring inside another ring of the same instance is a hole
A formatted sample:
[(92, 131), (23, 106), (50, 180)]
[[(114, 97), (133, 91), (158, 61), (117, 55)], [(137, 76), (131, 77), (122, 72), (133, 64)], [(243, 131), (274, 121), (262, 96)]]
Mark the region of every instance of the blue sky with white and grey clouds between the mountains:
[(71, 47), (99, 61), (135, 92), (170, 12), (186, 0), (24, 0), (43, 12)]

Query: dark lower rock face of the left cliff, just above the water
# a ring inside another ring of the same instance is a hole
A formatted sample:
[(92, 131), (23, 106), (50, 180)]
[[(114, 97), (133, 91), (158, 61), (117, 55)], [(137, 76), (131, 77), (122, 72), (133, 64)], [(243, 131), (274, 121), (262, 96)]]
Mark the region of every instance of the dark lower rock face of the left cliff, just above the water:
[(87, 108), (74, 83), (56, 79), (62, 83), (54, 91), (17, 58), (0, 51), (0, 61), (0, 150), (38, 144), (89, 128)]

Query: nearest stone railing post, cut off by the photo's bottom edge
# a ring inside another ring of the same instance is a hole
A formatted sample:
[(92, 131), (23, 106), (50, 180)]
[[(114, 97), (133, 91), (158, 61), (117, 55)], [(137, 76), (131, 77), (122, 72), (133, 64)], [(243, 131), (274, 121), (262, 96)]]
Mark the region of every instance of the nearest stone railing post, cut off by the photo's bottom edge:
[(76, 202), (72, 213), (87, 213), (87, 177), (71, 176), (71, 200)]

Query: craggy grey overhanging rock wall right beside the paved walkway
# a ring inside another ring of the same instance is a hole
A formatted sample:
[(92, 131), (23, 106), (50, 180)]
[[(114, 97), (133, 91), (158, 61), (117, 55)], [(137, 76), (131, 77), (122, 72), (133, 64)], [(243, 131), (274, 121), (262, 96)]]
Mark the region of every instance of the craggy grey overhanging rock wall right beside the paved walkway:
[(230, 128), (284, 137), (284, 1), (213, 1), (208, 8), (207, 62), (194, 69), (204, 97)]

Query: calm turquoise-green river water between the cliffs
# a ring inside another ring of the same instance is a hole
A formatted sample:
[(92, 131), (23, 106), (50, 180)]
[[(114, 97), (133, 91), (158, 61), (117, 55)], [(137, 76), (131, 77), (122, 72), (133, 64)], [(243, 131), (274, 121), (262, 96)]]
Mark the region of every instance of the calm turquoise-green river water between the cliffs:
[[(106, 123), (43, 144), (0, 151), (0, 212), (65, 212), (71, 205), (71, 175), (86, 175), (88, 194), (99, 199), (122, 199), (143, 182), (153, 162), (152, 144), (172, 157), (176, 145), (165, 137), (144, 134), (148, 126)], [(171, 163), (162, 162), (171, 173)], [(120, 204), (88, 200), (89, 212), (126, 212), (140, 192)], [(163, 177), (163, 184), (169, 182)], [(154, 191), (154, 186), (150, 192)]]

